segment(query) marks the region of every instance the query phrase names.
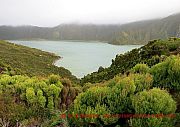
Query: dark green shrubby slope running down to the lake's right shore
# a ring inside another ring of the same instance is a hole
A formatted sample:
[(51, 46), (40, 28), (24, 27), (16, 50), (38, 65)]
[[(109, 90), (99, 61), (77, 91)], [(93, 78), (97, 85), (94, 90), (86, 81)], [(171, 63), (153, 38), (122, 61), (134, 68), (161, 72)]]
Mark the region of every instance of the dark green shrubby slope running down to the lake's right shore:
[(109, 80), (120, 73), (128, 74), (128, 70), (138, 63), (145, 63), (151, 67), (163, 61), (167, 56), (178, 53), (180, 53), (180, 39), (153, 40), (141, 48), (133, 49), (123, 55), (116, 55), (110, 67), (100, 67), (97, 72), (93, 72), (82, 78), (81, 83), (97, 83)]

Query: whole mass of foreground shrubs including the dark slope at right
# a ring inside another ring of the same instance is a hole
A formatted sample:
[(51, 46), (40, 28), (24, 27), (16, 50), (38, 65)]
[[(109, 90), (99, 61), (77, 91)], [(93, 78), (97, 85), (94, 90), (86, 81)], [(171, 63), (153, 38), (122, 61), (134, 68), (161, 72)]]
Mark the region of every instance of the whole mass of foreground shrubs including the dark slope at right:
[(6, 67), (0, 74), (0, 126), (179, 127), (179, 51), (179, 38), (150, 41), (117, 55), (81, 86), (57, 75), (12, 76), (14, 70), (0, 64)]

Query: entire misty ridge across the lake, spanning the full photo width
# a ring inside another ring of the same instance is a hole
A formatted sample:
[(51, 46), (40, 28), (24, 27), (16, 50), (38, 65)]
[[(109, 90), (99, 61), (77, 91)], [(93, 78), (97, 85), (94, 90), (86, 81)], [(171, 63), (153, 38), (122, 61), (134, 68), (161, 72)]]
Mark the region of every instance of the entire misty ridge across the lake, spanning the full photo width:
[(0, 26), (0, 39), (105, 41), (111, 44), (147, 44), (148, 40), (180, 37), (180, 14), (124, 25), (62, 24), (53, 28)]

